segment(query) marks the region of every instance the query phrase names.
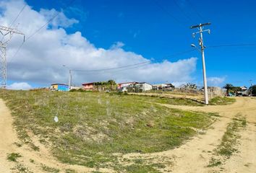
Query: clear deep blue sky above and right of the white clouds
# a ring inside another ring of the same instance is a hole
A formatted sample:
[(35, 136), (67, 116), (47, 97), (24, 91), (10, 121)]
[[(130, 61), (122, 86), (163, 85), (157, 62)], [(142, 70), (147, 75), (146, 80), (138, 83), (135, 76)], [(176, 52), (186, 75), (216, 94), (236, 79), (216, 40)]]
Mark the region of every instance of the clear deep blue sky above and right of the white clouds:
[[(26, 2), (36, 11), (61, 11), (69, 4), (67, 0)], [(191, 43), (198, 44), (197, 37), (192, 37), (195, 30), (189, 27), (200, 22), (212, 23), (208, 27), (210, 35), (204, 33), (205, 46), (256, 43), (255, 6), (253, 0), (76, 0), (64, 14), (79, 22), (65, 30), (67, 34), (80, 31), (97, 48), (109, 49), (115, 42), (124, 43), (124, 50), (153, 63), (197, 57), (192, 81), (202, 84), (200, 53), (174, 55), (191, 49)], [(249, 79), (256, 83), (256, 46), (206, 48), (205, 58), (208, 77), (225, 79), (223, 84), (248, 86)]]

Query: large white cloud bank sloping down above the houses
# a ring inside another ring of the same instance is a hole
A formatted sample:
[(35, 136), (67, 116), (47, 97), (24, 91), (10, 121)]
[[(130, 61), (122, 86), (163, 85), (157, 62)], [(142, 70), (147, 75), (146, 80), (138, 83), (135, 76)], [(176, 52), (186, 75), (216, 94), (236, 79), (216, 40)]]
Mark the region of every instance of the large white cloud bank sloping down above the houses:
[[(24, 4), (23, 0), (1, 1), (1, 25), (11, 23)], [(54, 14), (56, 14), (55, 9), (40, 9), (40, 12), (36, 12), (27, 6), (17, 19), (17, 23), (20, 22), (19, 30), (29, 36), (46, 24), (49, 17)], [(151, 58), (145, 58), (140, 54), (124, 50), (124, 43), (116, 42), (109, 49), (96, 48), (89, 40), (82, 37), (81, 32), (67, 33), (64, 28), (77, 22), (75, 19), (68, 19), (61, 12), (59, 17), (50, 24), (50, 27), (48, 25), (30, 40), (27, 40), (17, 56), (11, 61), (9, 58), (14, 55), (22, 43), (22, 36), (15, 35), (7, 49), (8, 79), (38, 84), (67, 83), (68, 69), (62, 67), (63, 64), (72, 69), (90, 70), (115, 68), (150, 61)], [(104, 71), (101, 74), (73, 71), (72, 75), (75, 84), (108, 79), (148, 81), (151, 83), (168, 81), (179, 84), (192, 80), (191, 75), (195, 71), (196, 63), (197, 58), (187, 58), (176, 62), (151, 62), (140, 68), (131, 68), (125, 71), (121, 71), (121, 69)]]

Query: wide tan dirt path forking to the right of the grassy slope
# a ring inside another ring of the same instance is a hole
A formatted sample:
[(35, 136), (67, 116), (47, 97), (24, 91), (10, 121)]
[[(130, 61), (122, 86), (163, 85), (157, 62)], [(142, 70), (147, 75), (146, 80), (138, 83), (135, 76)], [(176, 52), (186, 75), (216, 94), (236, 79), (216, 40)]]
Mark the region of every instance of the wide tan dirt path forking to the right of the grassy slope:
[(239, 97), (233, 105), (207, 106), (207, 107), (187, 107), (165, 105), (166, 107), (178, 108), (182, 110), (218, 112), (221, 117), (212, 128), (205, 134), (196, 136), (183, 146), (170, 151), (163, 151), (155, 154), (127, 154), (126, 157), (167, 157), (174, 164), (166, 167), (165, 171), (171, 172), (216, 172), (216, 168), (207, 167), (212, 157), (212, 153), (221, 142), (226, 127), (231, 119), (237, 114), (242, 114), (247, 118), (247, 128), (241, 132), (239, 139), (241, 145), (238, 146), (238, 153), (234, 154), (224, 165), (221, 165), (222, 172), (256, 172), (256, 99)]

